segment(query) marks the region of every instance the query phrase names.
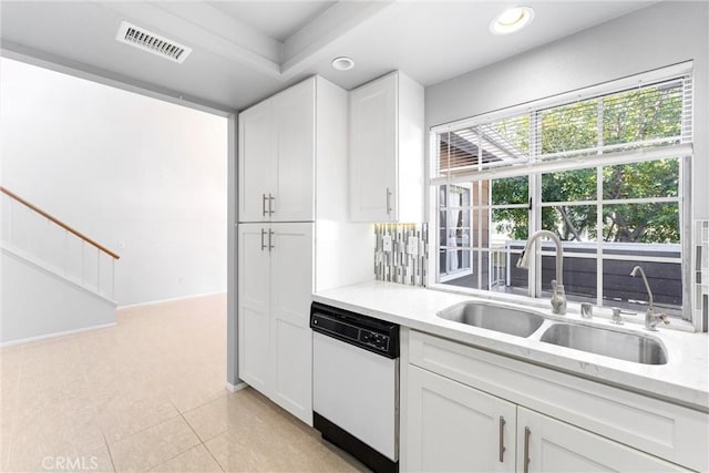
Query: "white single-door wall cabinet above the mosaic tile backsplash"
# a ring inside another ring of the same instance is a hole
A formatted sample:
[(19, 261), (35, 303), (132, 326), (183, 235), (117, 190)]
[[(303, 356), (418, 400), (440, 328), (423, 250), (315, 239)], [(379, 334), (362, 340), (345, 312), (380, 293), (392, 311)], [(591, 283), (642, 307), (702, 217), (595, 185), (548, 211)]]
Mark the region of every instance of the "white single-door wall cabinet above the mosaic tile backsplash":
[(394, 72), (350, 91), (350, 218), (423, 218), (423, 88)]

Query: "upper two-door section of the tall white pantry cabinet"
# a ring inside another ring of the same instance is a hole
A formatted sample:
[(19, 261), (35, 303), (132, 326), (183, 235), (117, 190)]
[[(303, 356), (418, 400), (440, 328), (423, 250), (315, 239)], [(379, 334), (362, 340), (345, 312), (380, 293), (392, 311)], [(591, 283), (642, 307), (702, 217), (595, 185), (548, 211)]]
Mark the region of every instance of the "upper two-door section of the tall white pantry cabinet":
[(239, 114), (239, 222), (315, 219), (311, 78)]

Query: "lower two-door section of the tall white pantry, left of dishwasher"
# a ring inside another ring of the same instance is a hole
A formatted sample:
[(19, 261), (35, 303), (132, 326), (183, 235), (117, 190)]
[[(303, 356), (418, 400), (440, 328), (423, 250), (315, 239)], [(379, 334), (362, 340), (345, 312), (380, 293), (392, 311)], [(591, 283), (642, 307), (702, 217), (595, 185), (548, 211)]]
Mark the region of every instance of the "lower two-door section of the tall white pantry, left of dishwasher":
[(312, 423), (311, 223), (239, 225), (239, 377)]

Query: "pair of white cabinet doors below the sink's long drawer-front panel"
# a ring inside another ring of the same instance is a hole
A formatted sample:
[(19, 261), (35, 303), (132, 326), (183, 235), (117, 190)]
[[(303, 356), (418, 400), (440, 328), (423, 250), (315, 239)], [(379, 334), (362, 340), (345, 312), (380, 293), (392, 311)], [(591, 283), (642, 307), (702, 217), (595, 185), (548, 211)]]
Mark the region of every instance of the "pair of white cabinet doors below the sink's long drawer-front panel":
[(682, 471), (413, 366), (408, 426), (407, 469), (414, 472)]

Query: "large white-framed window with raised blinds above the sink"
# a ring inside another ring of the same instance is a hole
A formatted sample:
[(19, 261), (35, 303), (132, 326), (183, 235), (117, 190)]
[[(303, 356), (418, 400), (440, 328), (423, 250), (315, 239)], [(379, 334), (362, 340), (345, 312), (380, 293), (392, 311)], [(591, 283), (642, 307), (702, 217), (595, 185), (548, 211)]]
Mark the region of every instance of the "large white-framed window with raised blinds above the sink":
[(548, 297), (552, 243), (542, 243), (530, 271), (515, 267), (528, 235), (547, 229), (563, 240), (569, 300), (644, 311), (645, 286), (630, 277), (640, 265), (656, 306), (689, 319), (684, 68), (434, 127), (436, 281)]

